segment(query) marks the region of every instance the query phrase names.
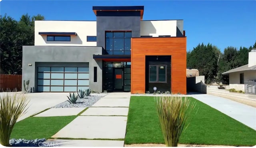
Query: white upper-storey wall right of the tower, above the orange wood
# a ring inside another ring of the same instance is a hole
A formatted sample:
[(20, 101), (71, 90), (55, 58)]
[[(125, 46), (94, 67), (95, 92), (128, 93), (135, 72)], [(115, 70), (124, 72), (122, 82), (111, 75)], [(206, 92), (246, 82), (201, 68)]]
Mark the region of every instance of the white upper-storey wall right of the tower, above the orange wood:
[(140, 21), (140, 36), (176, 37), (177, 20)]

